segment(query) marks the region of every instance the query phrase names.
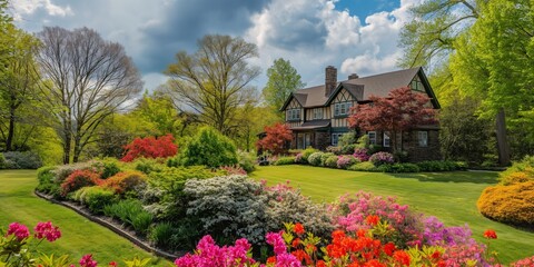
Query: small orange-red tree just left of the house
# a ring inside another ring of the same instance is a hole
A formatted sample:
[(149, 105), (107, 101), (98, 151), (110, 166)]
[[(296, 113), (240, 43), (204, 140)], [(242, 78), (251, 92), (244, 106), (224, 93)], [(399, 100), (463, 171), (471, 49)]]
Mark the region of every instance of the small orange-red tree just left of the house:
[(258, 149), (270, 151), (274, 155), (283, 154), (286, 150), (286, 142), (293, 139), (289, 126), (275, 123), (265, 127), (265, 137), (256, 146)]

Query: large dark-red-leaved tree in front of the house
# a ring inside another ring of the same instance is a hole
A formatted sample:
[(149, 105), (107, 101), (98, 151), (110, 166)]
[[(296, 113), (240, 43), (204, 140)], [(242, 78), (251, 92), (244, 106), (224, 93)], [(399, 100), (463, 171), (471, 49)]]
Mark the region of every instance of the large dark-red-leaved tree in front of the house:
[(369, 97), (370, 103), (353, 108), (348, 117), (352, 128), (392, 132), (392, 149), (397, 150), (397, 134), (421, 125), (437, 121), (436, 110), (429, 107), (429, 98), (408, 87), (392, 90), (387, 97)]

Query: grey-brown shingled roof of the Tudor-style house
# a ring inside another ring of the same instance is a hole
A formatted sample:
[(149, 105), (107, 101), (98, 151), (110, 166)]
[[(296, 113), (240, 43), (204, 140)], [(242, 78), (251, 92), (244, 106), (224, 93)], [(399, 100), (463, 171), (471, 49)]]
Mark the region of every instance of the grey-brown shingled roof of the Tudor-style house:
[[(337, 83), (336, 89), (332, 91), (330, 96), (325, 96), (325, 85), (309, 87), (297, 90), (293, 93), (293, 97), (296, 98), (304, 108), (322, 107), (329, 105), (335, 95), (344, 88), (350, 92), (357, 101), (367, 101), (370, 96), (386, 97), (394, 89), (407, 87), (419, 71), (422, 71), (422, 68), (416, 67), (340, 81)], [(432, 97), (435, 98), (434, 96)], [(280, 110), (286, 108), (290, 99), (291, 98), (287, 99)], [(435, 99), (433, 100), (435, 101)], [(437, 101), (435, 101), (435, 106), (439, 106)]]

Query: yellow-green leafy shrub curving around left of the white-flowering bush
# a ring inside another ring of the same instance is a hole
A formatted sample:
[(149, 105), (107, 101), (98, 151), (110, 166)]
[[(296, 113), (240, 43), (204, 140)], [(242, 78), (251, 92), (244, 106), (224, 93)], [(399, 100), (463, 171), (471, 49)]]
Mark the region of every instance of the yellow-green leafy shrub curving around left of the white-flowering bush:
[(142, 201), (156, 218), (174, 221), (186, 216), (187, 199), (184, 188), (188, 179), (206, 179), (217, 176), (206, 167), (164, 168), (150, 172), (147, 188), (142, 191)]

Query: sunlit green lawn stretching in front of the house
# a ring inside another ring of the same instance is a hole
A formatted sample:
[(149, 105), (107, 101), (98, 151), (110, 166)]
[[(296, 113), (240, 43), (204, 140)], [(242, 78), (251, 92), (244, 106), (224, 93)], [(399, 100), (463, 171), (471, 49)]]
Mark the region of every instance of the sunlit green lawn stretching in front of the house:
[(434, 215), (448, 226), (468, 224), (479, 241), (486, 243), (482, 237), (484, 230), (496, 230), (498, 239), (491, 240), (490, 249), (495, 249), (504, 263), (534, 254), (534, 233), (492, 221), (476, 209), (482, 190), (497, 182), (495, 172), (390, 175), (291, 165), (259, 167), (253, 177), (265, 179), (268, 185), (289, 180), (316, 201), (330, 202), (345, 192), (359, 190), (397, 196), (400, 204)]

